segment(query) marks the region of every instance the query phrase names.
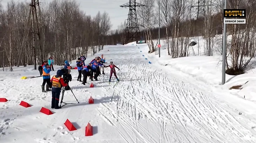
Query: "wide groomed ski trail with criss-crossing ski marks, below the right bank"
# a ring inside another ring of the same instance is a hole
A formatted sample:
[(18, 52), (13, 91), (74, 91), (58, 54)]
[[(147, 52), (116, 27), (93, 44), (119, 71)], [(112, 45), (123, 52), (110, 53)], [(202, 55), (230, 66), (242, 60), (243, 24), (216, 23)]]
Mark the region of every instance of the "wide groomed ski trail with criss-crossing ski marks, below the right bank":
[[(112, 59), (121, 69), (117, 71), (119, 83), (115, 85), (114, 75), (112, 82), (108, 83), (109, 69), (105, 69), (104, 81), (101, 75), (99, 81), (93, 82), (94, 88), (89, 88), (89, 85), (82, 86), (73, 78), (70, 87), (80, 100), (79, 104), (53, 110), (56, 113), (47, 117), (34, 111), (40, 110), (38, 106), (29, 112), (30, 116), (26, 116), (23, 124), (19, 123), (15, 126), (10, 124), (10, 127), (27, 133), (27, 143), (256, 142), (254, 103), (234, 97), (228, 91), (220, 92), (212, 85), (196, 80), (175, 67), (161, 66), (154, 63), (153, 59), (152, 64), (149, 64), (150, 58), (146, 60), (142, 56), (142, 54), (147, 55), (146, 51), (148, 51), (147, 46), (144, 48), (142, 46), (140, 49), (138, 46), (110, 46), (104, 49), (99, 54), (103, 53), (107, 60)], [(87, 61), (89, 60), (91, 59)], [(72, 76), (78, 76), (76, 71), (72, 71)], [(6, 85), (1, 84), (1, 86)], [(40, 94), (37, 96), (38, 101), (50, 104), (48, 97), (50, 93)], [(72, 93), (67, 93), (67, 96), (75, 102)], [(89, 96), (95, 98), (95, 104), (87, 104)], [(229, 100), (230, 98), (232, 101)], [(32, 112), (37, 115), (32, 115)], [(242, 112), (242, 115), (239, 115), (239, 112)], [(1, 117), (2, 115), (3, 113)], [(32, 116), (34, 118), (30, 119), (29, 117)], [(9, 122), (18, 120), (13, 114), (10, 114), (8, 119)], [(63, 125), (66, 119), (78, 124), (77, 127), (80, 129), (68, 131)], [(28, 121), (30, 123), (27, 123)], [(96, 134), (91, 137), (84, 136), (88, 122), (95, 126)], [(25, 127), (29, 124), (33, 126)], [(36, 124), (43, 126), (39, 129)], [(7, 130), (4, 127), (6, 125), (0, 124), (0, 132), (1, 129)], [(15, 137), (19, 137), (17, 130), (13, 133)], [(41, 135), (38, 135), (40, 133)], [(20, 138), (22, 136), (24, 137), (21, 134)], [(8, 141), (7, 138), (4, 139)], [(17, 142), (24, 141), (17, 140)]]

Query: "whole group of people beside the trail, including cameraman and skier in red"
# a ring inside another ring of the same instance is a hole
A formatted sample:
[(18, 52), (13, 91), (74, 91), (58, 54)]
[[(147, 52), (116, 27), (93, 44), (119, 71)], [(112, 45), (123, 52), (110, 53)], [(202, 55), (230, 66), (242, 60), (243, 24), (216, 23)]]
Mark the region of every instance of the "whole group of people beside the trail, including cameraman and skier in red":
[[(83, 85), (87, 83), (87, 77), (90, 77), (90, 80), (93, 81), (93, 77), (95, 81), (98, 81), (97, 77), (101, 74), (101, 69), (102, 69), (102, 74), (104, 73), (104, 68), (105, 67), (110, 67), (110, 78), (109, 82), (111, 81), (112, 74), (114, 73), (114, 76), (117, 81), (119, 79), (116, 76), (116, 70), (118, 70), (119, 67), (115, 66), (113, 62), (110, 62), (110, 65), (106, 66), (104, 64), (107, 64), (106, 59), (103, 58), (103, 55), (101, 57), (95, 57), (88, 65), (85, 64), (85, 56), (81, 55), (80, 58), (76, 61), (76, 66), (78, 69), (78, 79), (77, 81), (82, 82)], [(60, 93), (61, 93), (61, 88), (65, 87), (65, 90), (70, 90), (70, 87), (68, 85), (69, 81), (72, 81), (72, 76), (70, 74), (72, 67), (70, 66), (69, 62), (65, 60), (65, 65), (61, 70), (58, 70), (56, 72), (56, 75), (50, 79), (50, 71), (54, 71), (53, 69), (53, 64), (54, 61), (52, 57), (50, 57), (47, 61), (44, 61), (42, 65), (38, 67), (38, 70), (40, 72), (40, 75), (43, 76), (43, 83), (42, 83), (42, 92), (46, 91), (52, 91), (52, 105), (51, 108), (55, 109), (60, 109), (61, 106), (59, 106), (59, 100), (60, 100)], [(81, 80), (83, 74), (83, 80)], [(93, 76), (94, 75), (94, 76)], [(62, 78), (63, 76), (63, 78)], [(47, 85), (46, 85), (47, 84)], [(46, 85), (46, 90), (45, 90), (45, 85)]]

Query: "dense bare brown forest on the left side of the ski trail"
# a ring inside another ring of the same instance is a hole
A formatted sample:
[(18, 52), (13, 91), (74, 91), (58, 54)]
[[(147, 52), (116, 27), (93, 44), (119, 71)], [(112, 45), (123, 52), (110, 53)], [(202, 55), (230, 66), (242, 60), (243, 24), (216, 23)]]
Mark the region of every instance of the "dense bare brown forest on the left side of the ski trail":
[[(52, 56), (59, 65), (81, 53), (94, 55), (103, 49), (111, 28), (108, 13), (91, 17), (71, 0), (54, 0), (43, 6), (38, 0), (32, 2), (29, 6), (12, 1), (0, 7), (1, 66), (33, 65), (34, 49), (37, 64)], [(92, 53), (87, 53), (88, 48)]]

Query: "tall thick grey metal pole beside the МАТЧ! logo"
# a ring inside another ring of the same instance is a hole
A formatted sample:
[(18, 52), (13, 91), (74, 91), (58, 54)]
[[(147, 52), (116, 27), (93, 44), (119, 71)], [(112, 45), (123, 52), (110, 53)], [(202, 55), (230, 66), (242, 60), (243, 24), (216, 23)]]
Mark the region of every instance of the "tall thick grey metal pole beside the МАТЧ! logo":
[[(224, 9), (227, 9), (227, 0), (225, 0)], [(226, 18), (224, 17), (224, 20)], [(223, 21), (224, 21), (223, 20)], [(227, 24), (223, 27), (223, 47), (222, 47), (222, 85), (226, 82), (226, 39), (227, 39)]]

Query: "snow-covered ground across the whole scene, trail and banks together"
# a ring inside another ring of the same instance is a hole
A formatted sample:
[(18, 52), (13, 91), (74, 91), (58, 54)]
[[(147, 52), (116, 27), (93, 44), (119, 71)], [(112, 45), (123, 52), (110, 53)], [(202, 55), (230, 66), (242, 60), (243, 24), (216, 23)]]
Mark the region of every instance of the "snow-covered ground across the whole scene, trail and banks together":
[[(76, 81), (78, 72), (72, 70), (70, 87), (80, 103), (52, 109), (52, 115), (39, 112), (50, 109), (51, 100), (50, 92), (41, 92), (42, 78), (20, 79), (37, 76), (38, 70), (0, 71), (0, 98), (9, 100), (0, 102), (1, 143), (255, 143), (256, 104), (238, 96), (252, 86), (245, 84), (242, 93), (228, 90), (247, 79), (253, 83), (254, 74), (227, 76), (229, 82), (221, 86), (216, 57), (170, 59), (147, 52), (146, 44), (106, 46), (95, 56), (103, 53), (107, 62), (112, 59), (120, 67), (120, 82), (115, 85), (112, 78), (109, 84), (106, 69), (104, 79), (101, 75), (89, 88)], [(90, 96), (94, 104), (88, 104)], [(22, 100), (33, 106), (20, 106)], [(70, 91), (63, 101), (76, 102)], [(78, 130), (68, 131), (66, 119)], [(88, 122), (94, 126), (90, 137), (85, 136)]]

